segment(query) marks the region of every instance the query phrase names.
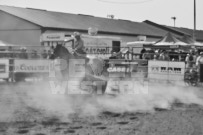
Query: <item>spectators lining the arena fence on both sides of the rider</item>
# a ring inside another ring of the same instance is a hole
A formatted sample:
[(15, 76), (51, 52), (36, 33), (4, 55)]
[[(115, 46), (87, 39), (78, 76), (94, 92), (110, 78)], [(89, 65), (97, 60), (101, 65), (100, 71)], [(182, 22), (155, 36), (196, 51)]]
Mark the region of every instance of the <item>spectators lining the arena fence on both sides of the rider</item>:
[[(82, 46), (84, 47), (84, 46)], [(79, 52), (79, 51), (78, 51)], [(129, 52), (126, 53), (130, 54)], [(122, 52), (111, 51), (111, 56), (109, 59), (128, 59), (125, 57), (126, 54)], [(53, 59), (53, 48), (50, 47), (49, 50), (27, 50), (25, 47), (19, 50), (7, 50), (1, 51), (0, 58), (21, 58), (21, 59)], [(198, 66), (199, 63), (203, 63), (203, 51), (198, 52), (196, 50), (190, 50), (189, 52), (175, 51), (172, 50), (146, 50), (143, 48), (139, 54), (130, 54), (133, 59), (143, 59), (143, 60), (162, 60), (162, 61), (185, 61), (188, 68)]]

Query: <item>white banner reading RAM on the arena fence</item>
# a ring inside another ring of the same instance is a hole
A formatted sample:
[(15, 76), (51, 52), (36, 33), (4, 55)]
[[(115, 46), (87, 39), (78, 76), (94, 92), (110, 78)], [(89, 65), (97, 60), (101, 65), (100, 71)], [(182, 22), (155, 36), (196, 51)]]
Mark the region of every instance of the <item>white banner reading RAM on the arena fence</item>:
[(175, 61), (149, 61), (148, 78), (161, 80), (184, 80), (185, 63)]

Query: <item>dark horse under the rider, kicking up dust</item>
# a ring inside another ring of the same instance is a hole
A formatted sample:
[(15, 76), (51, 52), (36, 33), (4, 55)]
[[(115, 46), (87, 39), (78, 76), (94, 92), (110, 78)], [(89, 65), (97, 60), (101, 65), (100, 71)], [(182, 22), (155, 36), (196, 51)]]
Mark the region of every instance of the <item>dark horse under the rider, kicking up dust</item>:
[[(102, 59), (72, 52), (64, 45), (54, 49), (55, 60), (62, 60), (65, 65), (60, 69), (59, 81), (79, 81), (80, 89), (90, 94), (104, 94), (107, 86), (105, 63)], [(64, 63), (65, 62), (65, 63)]]

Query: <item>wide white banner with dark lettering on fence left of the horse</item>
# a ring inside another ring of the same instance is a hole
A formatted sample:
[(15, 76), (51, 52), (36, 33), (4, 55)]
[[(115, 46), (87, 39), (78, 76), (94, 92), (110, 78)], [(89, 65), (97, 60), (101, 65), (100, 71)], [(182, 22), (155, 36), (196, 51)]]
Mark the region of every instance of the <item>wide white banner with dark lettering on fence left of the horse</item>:
[(50, 60), (18, 60), (14, 61), (14, 72), (49, 72)]

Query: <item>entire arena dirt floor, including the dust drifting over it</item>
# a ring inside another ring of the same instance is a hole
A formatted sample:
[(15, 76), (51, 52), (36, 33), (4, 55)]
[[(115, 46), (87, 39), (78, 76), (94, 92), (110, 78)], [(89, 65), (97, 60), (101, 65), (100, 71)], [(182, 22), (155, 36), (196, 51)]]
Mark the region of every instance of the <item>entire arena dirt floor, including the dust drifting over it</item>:
[[(148, 95), (53, 95), (47, 84), (1, 84), (0, 135), (201, 135), (201, 88)], [(170, 91), (169, 91), (170, 90)]]

